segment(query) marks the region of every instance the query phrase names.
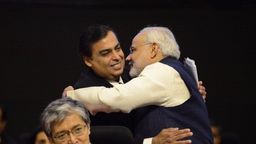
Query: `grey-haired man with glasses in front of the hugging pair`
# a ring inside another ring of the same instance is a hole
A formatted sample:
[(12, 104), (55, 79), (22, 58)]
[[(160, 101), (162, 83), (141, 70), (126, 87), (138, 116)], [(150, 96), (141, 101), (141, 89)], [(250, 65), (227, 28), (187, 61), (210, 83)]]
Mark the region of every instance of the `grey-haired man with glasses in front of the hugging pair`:
[(90, 144), (90, 118), (84, 104), (70, 98), (52, 101), (41, 114), (41, 125), (53, 144)]

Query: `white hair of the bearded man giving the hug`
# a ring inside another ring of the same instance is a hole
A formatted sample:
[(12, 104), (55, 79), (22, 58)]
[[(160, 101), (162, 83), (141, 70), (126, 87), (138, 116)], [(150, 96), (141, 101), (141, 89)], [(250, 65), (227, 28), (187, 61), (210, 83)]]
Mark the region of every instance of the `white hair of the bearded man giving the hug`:
[(147, 27), (139, 31), (139, 33), (146, 33), (145, 43), (156, 42), (162, 51), (163, 56), (180, 58), (179, 45), (177, 44), (171, 30), (165, 27)]

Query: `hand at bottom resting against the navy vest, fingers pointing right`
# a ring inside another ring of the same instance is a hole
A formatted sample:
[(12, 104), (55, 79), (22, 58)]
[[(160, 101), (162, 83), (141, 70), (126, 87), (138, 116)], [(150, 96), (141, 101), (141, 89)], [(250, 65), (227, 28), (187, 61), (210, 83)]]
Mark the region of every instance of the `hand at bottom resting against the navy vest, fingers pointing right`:
[(152, 139), (152, 144), (191, 144), (191, 140), (177, 141), (188, 136), (192, 136), (193, 133), (190, 129), (168, 128), (162, 129), (162, 131)]

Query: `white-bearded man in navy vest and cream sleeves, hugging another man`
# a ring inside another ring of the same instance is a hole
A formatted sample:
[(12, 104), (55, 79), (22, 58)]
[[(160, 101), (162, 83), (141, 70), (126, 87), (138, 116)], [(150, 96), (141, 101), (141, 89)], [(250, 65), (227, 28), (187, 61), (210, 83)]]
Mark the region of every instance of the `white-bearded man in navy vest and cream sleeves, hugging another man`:
[(67, 96), (83, 101), (92, 114), (129, 113), (142, 107), (136, 110), (137, 138), (155, 136), (168, 127), (186, 127), (194, 133), (193, 143), (213, 144), (205, 103), (178, 61), (180, 51), (172, 32), (163, 27), (144, 28), (134, 37), (130, 51), (126, 60), (131, 81), (113, 88), (68, 91)]

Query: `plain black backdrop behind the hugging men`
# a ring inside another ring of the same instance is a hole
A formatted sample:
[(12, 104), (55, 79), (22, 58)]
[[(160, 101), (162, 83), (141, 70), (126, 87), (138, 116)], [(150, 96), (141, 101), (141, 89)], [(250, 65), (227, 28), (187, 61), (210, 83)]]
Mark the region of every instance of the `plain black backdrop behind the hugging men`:
[(0, 103), (6, 131), (18, 140), (32, 131), (47, 104), (86, 68), (77, 55), (89, 25), (112, 26), (125, 55), (148, 24), (169, 27), (181, 58), (195, 60), (207, 88), (209, 116), (223, 131), (255, 144), (256, 5), (252, 1), (0, 1)]

